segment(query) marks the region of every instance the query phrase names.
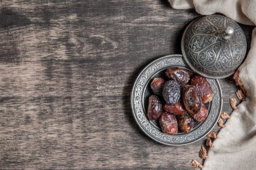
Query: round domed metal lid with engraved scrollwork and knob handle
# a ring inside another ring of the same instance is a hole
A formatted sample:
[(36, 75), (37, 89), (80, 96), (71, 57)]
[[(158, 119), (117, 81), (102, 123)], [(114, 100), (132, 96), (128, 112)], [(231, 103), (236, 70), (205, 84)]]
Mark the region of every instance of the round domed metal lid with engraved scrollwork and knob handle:
[(232, 75), (242, 63), (246, 47), (246, 38), (238, 23), (217, 14), (192, 21), (181, 40), (186, 63), (207, 78)]

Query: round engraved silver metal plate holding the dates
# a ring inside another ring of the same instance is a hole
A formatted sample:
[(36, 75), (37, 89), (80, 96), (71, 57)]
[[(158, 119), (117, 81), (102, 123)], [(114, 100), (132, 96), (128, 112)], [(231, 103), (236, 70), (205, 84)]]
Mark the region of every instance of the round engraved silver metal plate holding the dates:
[[(178, 132), (176, 135), (162, 133), (158, 121), (150, 121), (146, 114), (148, 97), (152, 94), (150, 83), (154, 77), (164, 75), (166, 69), (180, 67), (192, 73), (182, 55), (167, 55), (148, 64), (138, 75), (131, 92), (131, 108), (140, 129), (153, 140), (166, 145), (186, 145), (207, 135), (218, 121), (222, 107), (221, 87), (216, 79), (207, 78), (214, 93), (208, 104), (208, 117), (195, 124), (190, 133)], [(193, 73), (192, 73), (193, 74)]]

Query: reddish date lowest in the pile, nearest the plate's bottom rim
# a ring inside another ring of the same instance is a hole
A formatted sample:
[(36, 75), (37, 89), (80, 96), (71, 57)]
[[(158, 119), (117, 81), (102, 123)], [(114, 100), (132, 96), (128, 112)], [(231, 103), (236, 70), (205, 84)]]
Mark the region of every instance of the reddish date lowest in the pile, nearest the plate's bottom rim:
[(177, 119), (172, 113), (163, 112), (159, 118), (159, 123), (163, 133), (176, 134), (178, 132)]

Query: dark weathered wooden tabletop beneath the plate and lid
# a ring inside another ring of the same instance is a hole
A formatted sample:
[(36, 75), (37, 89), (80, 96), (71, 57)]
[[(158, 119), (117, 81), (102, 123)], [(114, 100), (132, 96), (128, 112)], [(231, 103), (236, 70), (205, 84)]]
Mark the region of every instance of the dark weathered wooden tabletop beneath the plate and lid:
[[(130, 93), (149, 62), (181, 53), (198, 16), (167, 0), (1, 1), (0, 169), (192, 169), (206, 138), (151, 140)], [(241, 26), (249, 41), (253, 27)], [(220, 84), (231, 112), (237, 88)]]

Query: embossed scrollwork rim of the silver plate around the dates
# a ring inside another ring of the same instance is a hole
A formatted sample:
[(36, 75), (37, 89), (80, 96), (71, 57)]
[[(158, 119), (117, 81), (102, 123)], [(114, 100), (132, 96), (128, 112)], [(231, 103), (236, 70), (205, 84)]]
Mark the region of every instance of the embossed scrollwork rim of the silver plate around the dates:
[(218, 121), (222, 103), (221, 89), (217, 80), (207, 79), (212, 86), (214, 96), (212, 98), (212, 102), (209, 104), (209, 116), (202, 124), (198, 125), (197, 129), (186, 134), (168, 135), (162, 133), (160, 130), (155, 128), (153, 124), (151, 124), (146, 117), (146, 113), (143, 111), (143, 90), (147, 86), (148, 80), (152, 78), (152, 75), (163, 68), (169, 68), (171, 66), (181, 66), (189, 69), (181, 56), (167, 56), (158, 59), (156, 62), (147, 66), (146, 69), (140, 73), (132, 90), (132, 110), (134, 118), (140, 128), (152, 139), (167, 145), (188, 144), (207, 134), (213, 125)]

